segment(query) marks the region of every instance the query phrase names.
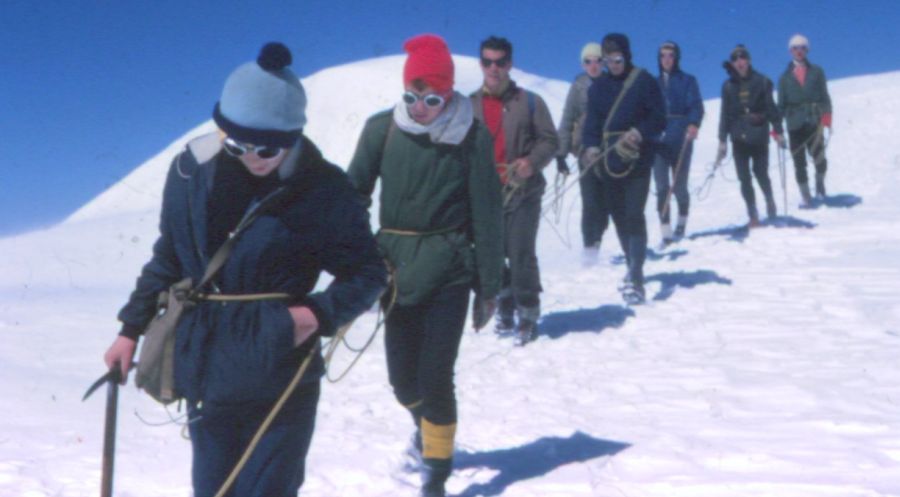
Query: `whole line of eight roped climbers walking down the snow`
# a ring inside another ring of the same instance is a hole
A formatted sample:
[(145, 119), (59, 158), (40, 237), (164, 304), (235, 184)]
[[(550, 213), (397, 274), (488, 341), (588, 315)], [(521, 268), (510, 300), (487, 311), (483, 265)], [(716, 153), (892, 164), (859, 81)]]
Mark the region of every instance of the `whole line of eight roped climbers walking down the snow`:
[[(745, 47), (735, 48), (725, 64), (718, 160), (731, 136), (751, 226), (759, 224), (751, 159), (767, 213), (775, 215), (768, 139), (771, 124), (772, 136), (784, 142), (782, 114), (804, 203), (811, 202), (806, 150), (815, 161), (816, 194), (825, 195), (821, 133), (831, 124), (831, 107), (824, 73), (806, 59), (808, 48), (802, 36), (791, 38), (794, 57), (779, 81), (778, 105)], [(201, 281), (213, 255), (234, 243), (207, 288), (194, 290), (244, 298), (201, 299), (184, 311), (175, 332), (175, 390), (187, 403), (197, 497), (221, 494), (247, 441), (297, 364), (311, 355), (300, 386), (229, 494), (297, 495), (324, 369), (318, 339), (334, 336), (379, 296), (389, 308), (389, 381), (415, 426), (408, 453), (422, 473), (421, 495), (445, 495), (457, 422), (453, 372), (471, 292), (476, 329), (496, 311), (497, 330), (519, 344), (538, 333), (542, 170), (554, 158), (562, 173), (569, 154), (578, 159), (587, 263), (596, 261), (612, 217), (627, 262), (627, 302), (644, 300), (651, 172), (663, 242), (685, 236), (687, 178), (703, 103), (696, 79), (681, 70), (676, 43), (659, 47), (656, 78), (633, 64), (622, 34), (585, 45), (584, 74), (572, 84), (558, 131), (543, 99), (510, 78), (508, 40), (492, 36), (481, 43), (483, 86), (468, 97), (454, 89), (443, 39), (416, 36), (404, 49), (402, 98), (365, 123), (346, 173), (303, 135), (306, 93), (288, 68), (290, 51), (279, 43), (232, 72), (213, 113), (220, 131), (193, 140), (172, 162), (160, 236), (118, 315), (121, 331), (104, 360), (127, 378), (157, 295), (187, 278)], [(367, 206), (379, 181), (381, 228), (373, 235)], [(255, 209), (264, 211), (233, 242), (234, 227)], [(385, 293), (388, 267), (394, 290)], [(314, 292), (322, 271), (334, 281)], [(271, 292), (290, 297), (252, 298)]]

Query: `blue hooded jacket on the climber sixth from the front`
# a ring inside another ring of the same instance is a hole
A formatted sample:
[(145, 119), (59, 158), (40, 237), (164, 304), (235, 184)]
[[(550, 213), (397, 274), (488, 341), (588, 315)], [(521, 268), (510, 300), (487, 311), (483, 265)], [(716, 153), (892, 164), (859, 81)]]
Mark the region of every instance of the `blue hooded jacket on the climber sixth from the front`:
[(703, 99), (697, 78), (680, 69), (669, 73), (668, 84), (663, 74), (659, 75), (658, 81), (666, 104), (666, 130), (659, 139), (659, 152), (667, 157), (677, 157), (688, 125), (699, 128), (703, 121)]

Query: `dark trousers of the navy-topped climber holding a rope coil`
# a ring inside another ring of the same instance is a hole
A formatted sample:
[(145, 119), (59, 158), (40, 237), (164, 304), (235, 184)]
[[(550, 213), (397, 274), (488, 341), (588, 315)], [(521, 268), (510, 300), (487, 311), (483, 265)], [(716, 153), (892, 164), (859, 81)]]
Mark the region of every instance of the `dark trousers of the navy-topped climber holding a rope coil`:
[(619, 244), (625, 252), (628, 277), (638, 285), (644, 283), (644, 260), (647, 258), (644, 208), (650, 195), (650, 172), (642, 172), (633, 172), (624, 178), (607, 178), (603, 182)]

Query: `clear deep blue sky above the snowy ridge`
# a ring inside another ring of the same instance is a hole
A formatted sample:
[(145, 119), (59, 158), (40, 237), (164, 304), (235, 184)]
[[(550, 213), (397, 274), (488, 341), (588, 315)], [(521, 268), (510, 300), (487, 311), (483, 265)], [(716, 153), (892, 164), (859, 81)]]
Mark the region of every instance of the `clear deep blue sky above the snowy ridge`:
[(631, 38), (635, 63), (654, 72), (656, 47), (677, 41), (682, 67), (712, 98), (736, 43), (775, 79), (787, 39), (802, 32), (833, 79), (900, 70), (898, 26), (897, 0), (4, 0), (0, 236), (61, 221), (208, 119), (231, 70), (271, 40), (291, 48), (294, 71), (306, 76), (401, 53), (422, 32), (466, 55), (496, 34), (513, 42), (520, 69), (571, 80), (581, 46), (618, 31)]

